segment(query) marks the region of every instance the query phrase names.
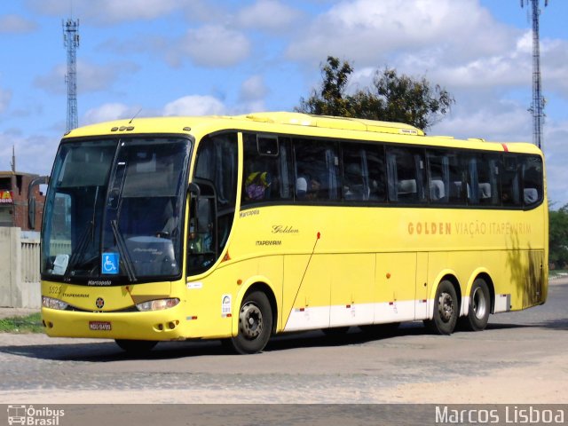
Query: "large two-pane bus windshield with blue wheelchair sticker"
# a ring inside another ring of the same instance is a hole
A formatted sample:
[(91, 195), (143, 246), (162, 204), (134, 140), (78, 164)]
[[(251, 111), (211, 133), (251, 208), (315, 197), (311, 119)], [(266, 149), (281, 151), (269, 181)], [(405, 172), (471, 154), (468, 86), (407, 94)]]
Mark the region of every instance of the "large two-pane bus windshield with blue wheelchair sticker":
[(61, 144), (45, 201), (45, 279), (113, 285), (178, 277), (188, 153), (182, 138)]

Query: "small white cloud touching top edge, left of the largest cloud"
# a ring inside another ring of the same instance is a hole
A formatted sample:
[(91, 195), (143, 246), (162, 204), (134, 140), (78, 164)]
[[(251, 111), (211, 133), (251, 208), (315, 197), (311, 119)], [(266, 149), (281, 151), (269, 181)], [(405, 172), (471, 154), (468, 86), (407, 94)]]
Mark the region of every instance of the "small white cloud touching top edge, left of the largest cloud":
[(301, 12), (276, 0), (258, 0), (255, 4), (238, 12), (236, 22), (245, 28), (264, 29), (280, 32), (296, 27), (302, 20)]

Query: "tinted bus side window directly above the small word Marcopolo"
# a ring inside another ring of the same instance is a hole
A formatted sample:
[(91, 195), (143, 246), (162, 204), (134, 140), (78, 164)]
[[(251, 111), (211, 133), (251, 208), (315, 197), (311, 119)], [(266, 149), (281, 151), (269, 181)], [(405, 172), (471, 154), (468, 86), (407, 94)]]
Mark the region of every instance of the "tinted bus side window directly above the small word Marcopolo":
[(339, 157), (336, 144), (295, 139), (294, 154), (296, 158), (296, 200), (339, 200)]

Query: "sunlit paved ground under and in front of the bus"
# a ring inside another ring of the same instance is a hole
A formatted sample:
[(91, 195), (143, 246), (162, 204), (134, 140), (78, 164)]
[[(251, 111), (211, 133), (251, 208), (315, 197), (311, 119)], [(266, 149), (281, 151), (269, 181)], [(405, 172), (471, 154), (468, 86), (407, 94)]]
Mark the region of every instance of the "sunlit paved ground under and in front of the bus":
[[(272, 339), (261, 354), (217, 342), (160, 343), (131, 358), (114, 342), (0, 335), (0, 404), (568, 402), (568, 284), (547, 304), (490, 317), (483, 332), (351, 328)], [(568, 419), (566, 419), (568, 421)]]

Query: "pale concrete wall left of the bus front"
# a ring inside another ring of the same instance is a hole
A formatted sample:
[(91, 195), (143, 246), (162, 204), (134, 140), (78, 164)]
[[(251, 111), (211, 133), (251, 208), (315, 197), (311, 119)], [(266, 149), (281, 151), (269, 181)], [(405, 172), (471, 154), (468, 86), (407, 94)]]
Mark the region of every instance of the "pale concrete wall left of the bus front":
[(41, 307), (39, 249), (39, 240), (21, 239), (20, 228), (0, 227), (0, 307)]

